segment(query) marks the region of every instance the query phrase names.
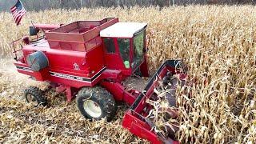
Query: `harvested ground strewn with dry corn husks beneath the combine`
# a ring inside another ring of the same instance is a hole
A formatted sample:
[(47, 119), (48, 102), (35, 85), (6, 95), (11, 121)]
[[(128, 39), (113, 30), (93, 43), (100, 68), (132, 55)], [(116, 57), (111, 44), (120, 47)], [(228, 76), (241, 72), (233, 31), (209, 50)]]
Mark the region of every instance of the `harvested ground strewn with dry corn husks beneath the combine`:
[[(127, 106), (118, 106), (118, 114), (112, 122), (86, 120), (79, 113), (75, 101), (67, 103), (65, 96), (54, 90), (46, 93), (48, 106), (30, 106), (23, 97), (23, 90), (28, 86), (44, 90), (47, 84), (19, 74), (12, 62), (9, 59), (0, 62), (0, 143), (146, 142), (122, 128)], [(142, 90), (145, 82), (143, 79), (127, 85)]]

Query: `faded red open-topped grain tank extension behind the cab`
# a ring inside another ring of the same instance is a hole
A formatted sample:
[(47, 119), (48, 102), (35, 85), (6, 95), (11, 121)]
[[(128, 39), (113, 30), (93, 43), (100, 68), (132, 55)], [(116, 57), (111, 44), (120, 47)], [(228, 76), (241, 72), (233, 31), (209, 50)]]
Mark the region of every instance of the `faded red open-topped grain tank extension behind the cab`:
[[(103, 30), (116, 22), (118, 22), (118, 18), (105, 18), (101, 21), (72, 22), (57, 29), (47, 31), (46, 38), (50, 47), (53, 49), (86, 50), (86, 42), (98, 37), (100, 30)], [(58, 42), (58, 44), (56, 42)], [(73, 44), (70, 44), (69, 42)], [(74, 43), (77, 43), (79, 46), (78, 49), (74, 48)], [(90, 42), (90, 45), (91, 44), (92, 42)], [(90, 48), (88, 49), (90, 50)]]

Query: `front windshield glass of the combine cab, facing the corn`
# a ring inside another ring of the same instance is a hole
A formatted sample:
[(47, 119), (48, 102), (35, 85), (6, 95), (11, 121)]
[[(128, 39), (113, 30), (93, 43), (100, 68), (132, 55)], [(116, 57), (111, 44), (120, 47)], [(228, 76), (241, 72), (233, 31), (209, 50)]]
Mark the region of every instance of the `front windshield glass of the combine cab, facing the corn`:
[(143, 47), (144, 47), (145, 30), (134, 36), (134, 61), (131, 66), (133, 69), (137, 68), (143, 60)]

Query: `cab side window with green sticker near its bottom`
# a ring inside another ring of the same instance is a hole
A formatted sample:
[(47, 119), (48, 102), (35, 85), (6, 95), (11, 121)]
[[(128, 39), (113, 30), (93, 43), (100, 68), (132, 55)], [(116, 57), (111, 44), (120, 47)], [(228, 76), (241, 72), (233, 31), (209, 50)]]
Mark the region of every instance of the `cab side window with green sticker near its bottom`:
[(118, 47), (126, 68), (130, 68), (130, 38), (118, 38)]

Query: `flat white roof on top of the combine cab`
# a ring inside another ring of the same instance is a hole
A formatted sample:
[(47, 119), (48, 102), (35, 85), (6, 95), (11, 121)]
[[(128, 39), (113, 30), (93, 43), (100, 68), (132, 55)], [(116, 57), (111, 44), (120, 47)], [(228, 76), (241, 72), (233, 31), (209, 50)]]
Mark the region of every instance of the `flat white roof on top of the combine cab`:
[(117, 22), (100, 31), (101, 37), (132, 38), (134, 34), (145, 29), (147, 23)]

